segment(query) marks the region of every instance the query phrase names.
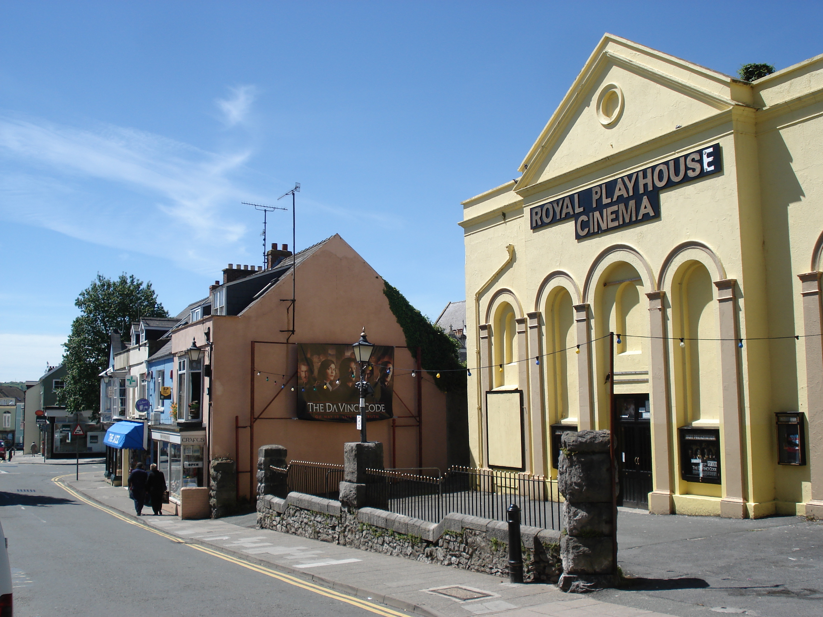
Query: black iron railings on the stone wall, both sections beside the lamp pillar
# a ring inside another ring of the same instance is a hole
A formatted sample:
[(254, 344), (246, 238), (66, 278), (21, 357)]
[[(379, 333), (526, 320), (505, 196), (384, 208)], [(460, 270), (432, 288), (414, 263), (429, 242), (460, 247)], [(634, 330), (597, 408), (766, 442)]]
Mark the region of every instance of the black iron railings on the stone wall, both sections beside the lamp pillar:
[[(289, 492), (337, 499), (343, 466), (292, 461), (286, 468)], [(556, 481), (516, 471), (451, 467), (441, 474), (436, 467), (370, 469), (366, 475), (369, 503), (376, 508), (440, 522), (449, 513), (468, 514), (505, 522), (506, 510), (516, 503), (523, 525), (560, 530), (562, 503)]]

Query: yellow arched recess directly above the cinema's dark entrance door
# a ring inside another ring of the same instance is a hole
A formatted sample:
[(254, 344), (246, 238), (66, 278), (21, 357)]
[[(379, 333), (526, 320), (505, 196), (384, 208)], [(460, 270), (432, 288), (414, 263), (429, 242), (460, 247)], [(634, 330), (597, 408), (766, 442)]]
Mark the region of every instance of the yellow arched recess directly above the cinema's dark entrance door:
[[(593, 313), (594, 387), (597, 428), (608, 428), (610, 398), (607, 375), (611, 372), (609, 332), (614, 341), (614, 383), (616, 395), (636, 395), (636, 409), (649, 411), (651, 345), (649, 300), (654, 290), (650, 268), (637, 253), (615, 250), (602, 258), (591, 272), (588, 292)], [(642, 400), (640, 400), (642, 399)], [(628, 399), (627, 399), (628, 400)], [(627, 403), (628, 404), (628, 403)], [(635, 403), (631, 403), (635, 404)], [(646, 416), (648, 417), (648, 416)]]

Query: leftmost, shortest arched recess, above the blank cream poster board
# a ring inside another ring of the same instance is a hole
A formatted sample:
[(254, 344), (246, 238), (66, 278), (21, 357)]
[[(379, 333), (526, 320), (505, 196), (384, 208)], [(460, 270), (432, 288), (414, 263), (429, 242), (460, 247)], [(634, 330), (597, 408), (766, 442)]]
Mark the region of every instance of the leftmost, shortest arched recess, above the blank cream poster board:
[(486, 310), (486, 323), (491, 323), (492, 387), (522, 385), (518, 365), (520, 341), (515, 323), (522, 316), (520, 303), (510, 290), (498, 290), (491, 297)]

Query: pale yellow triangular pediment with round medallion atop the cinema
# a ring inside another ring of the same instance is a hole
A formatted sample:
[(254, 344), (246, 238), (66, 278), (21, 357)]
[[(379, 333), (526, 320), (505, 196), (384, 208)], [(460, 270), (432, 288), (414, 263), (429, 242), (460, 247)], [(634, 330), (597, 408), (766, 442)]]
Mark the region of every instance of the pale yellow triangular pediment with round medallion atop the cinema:
[(604, 35), (520, 165), (517, 190), (746, 105), (750, 98), (745, 82)]

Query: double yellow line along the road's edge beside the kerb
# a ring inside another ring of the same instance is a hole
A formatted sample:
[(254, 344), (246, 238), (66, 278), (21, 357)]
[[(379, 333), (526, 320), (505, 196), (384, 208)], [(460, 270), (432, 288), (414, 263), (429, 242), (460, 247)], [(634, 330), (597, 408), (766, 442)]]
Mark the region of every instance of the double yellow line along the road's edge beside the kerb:
[(160, 531), (159, 529), (155, 529), (150, 525), (139, 523), (132, 517), (125, 516), (119, 512), (115, 512), (111, 508), (101, 506), (100, 503), (95, 503), (91, 499), (86, 498), (85, 495), (77, 492), (77, 490), (72, 489), (71, 486), (64, 484), (61, 480), (63, 480), (63, 478), (65, 477), (67, 476), (56, 476), (52, 478), (52, 481), (61, 489), (65, 490), (68, 494), (71, 494), (72, 497), (74, 497), (74, 499), (77, 499), (82, 503), (86, 503), (87, 505), (90, 505), (92, 508), (97, 508), (98, 510), (110, 514), (115, 518), (119, 518), (121, 521), (128, 522), (129, 525), (136, 525), (137, 527), (142, 527), (147, 531), (151, 531), (151, 533), (156, 533), (158, 536), (163, 536), (167, 540), (171, 540), (173, 542), (177, 542), (179, 544), (188, 546), (189, 548), (192, 548), (194, 550), (199, 550), (201, 553), (210, 554), (218, 559), (223, 559), (224, 561), (228, 561), (232, 564), (237, 564), (242, 568), (246, 568), (248, 570), (253, 570), (254, 572), (265, 574), (267, 577), (277, 578), (278, 581), (286, 582), (289, 585), (294, 585), (295, 587), (300, 587), (300, 589), (305, 589), (306, 591), (313, 591), (314, 593), (317, 593), (320, 596), (326, 596), (327, 598), (331, 598), (332, 600), (346, 602), (346, 604), (351, 604), (352, 606), (357, 606), (360, 609), (368, 610), (370, 613), (374, 613), (375, 615), (384, 615), (384, 617), (408, 617), (409, 615), (408, 613), (401, 613), (397, 610), (392, 610), (386, 606), (374, 604), (374, 602), (360, 600), (360, 598), (356, 596), (349, 596), (345, 593), (341, 593), (340, 591), (334, 591), (333, 589), (328, 589), (327, 587), (320, 587), (319, 585), (315, 585), (313, 582), (308, 582), (301, 578), (291, 576), (291, 574), (277, 572), (276, 570), (272, 570), (271, 568), (265, 568), (264, 566), (260, 566), (257, 564), (249, 564), (249, 562), (244, 561), (243, 559), (237, 559), (236, 557), (232, 557), (231, 555), (221, 553), (221, 551), (214, 550), (208, 546), (190, 544), (177, 536), (172, 536), (171, 534), (165, 533), (165, 531)]

